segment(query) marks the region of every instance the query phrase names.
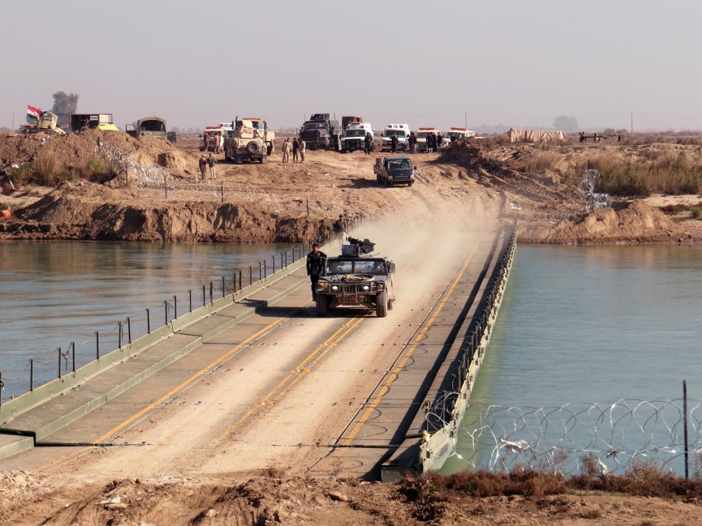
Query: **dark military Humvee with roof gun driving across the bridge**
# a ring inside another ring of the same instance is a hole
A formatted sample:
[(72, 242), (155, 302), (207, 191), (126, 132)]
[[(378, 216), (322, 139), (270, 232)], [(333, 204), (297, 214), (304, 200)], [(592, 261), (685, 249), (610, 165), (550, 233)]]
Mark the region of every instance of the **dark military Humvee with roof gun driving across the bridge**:
[(350, 307), (376, 311), (378, 318), (388, 316), (395, 302), (392, 274), (395, 263), (373, 255), (375, 243), (347, 238), (338, 257), (328, 257), (317, 283), (317, 316), (330, 309)]

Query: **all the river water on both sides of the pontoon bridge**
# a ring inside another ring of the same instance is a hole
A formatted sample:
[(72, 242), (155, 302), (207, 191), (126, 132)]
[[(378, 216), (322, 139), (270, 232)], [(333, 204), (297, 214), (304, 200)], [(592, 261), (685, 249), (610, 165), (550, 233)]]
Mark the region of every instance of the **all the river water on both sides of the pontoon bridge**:
[[(173, 318), (174, 295), (178, 313), (185, 313), (188, 290), (195, 308), (203, 284), (213, 281), (220, 297), (221, 276), (230, 284), (235, 270), (253, 264), (256, 278), (258, 261), (270, 264), (271, 255), (289, 248), (0, 243), (3, 400), (29, 389), (29, 358), (39, 386), (58, 375), (58, 347), (65, 353), (75, 342), (77, 365), (88, 363), (96, 354), (95, 331), (101, 352), (112, 351), (117, 321), (130, 316), (139, 337), (146, 308), (156, 328), (164, 324), (164, 300)], [(485, 435), (476, 453), (471, 436), (480, 424), (493, 439), (595, 452), (611, 447), (615, 436), (620, 449), (678, 438), (682, 380), (693, 408), (702, 396), (701, 307), (701, 246), (519, 246), (461, 428), (463, 459), (449, 459), (444, 472), (494, 461)], [(61, 358), (64, 372), (70, 358)], [(654, 406), (664, 411), (651, 413)], [(593, 442), (593, 429), (609, 433), (607, 440)]]

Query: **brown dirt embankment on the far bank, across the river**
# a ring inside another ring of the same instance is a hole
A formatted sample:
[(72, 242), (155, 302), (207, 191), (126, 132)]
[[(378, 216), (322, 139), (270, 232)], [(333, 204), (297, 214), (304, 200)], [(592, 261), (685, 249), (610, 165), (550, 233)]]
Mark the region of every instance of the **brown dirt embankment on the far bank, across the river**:
[[(373, 176), (376, 154), (308, 151), (305, 163), (282, 164), (276, 152), (267, 164), (241, 166), (218, 155), (217, 179), (201, 180), (201, 154), (192, 141), (189, 149), (180, 149), (152, 137), (137, 141), (123, 133), (95, 131), (50, 137), (42, 144), (43, 140), (42, 135), (0, 136), (5, 163), (33, 166), (49, 156), (55, 159), (56, 172), (68, 179), (43, 198), (32, 198), (26, 189), (2, 196), (1, 201), (13, 208), (13, 217), (0, 220), (0, 238), (307, 241), (328, 231), (340, 213), (393, 215), (419, 199), (475, 209), (469, 212), (477, 215), (488, 213), (498, 201), (505, 222), (516, 219), (522, 242), (529, 243), (702, 239), (702, 222), (669, 217), (644, 201), (614, 201), (611, 208), (585, 213), (583, 195), (574, 184), (562, 183), (562, 173), (586, 163), (594, 146), (554, 147), (550, 155), (557, 156), (557, 162), (540, 168), (543, 152), (538, 147), (461, 141), (440, 155), (414, 156), (418, 182), (413, 187), (385, 189)], [(120, 173), (108, 184), (71, 180), (100, 156), (98, 141), (128, 152), (143, 166), (165, 168), (167, 179)], [(686, 154), (702, 157), (696, 147), (656, 147), (689, 149)], [(650, 145), (607, 148), (629, 161), (650, 155)]]

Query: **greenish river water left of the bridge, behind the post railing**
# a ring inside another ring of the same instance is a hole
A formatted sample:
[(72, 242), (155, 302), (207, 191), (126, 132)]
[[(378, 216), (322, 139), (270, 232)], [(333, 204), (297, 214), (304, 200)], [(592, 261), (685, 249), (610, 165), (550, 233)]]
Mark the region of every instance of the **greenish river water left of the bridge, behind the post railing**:
[[(3, 400), (29, 390), (29, 358), (34, 360), (34, 387), (58, 376), (59, 351), (75, 343), (77, 367), (117, 349), (117, 322), (130, 317), (133, 339), (151, 328), (222, 296), (222, 277), (232, 292), (235, 271), (249, 284), (258, 279), (258, 262), (290, 245), (154, 244), (87, 242), (0, 243), (0, 372)], [(298, 252), (296, 251), (296, 257)], [(173, 301), (176, 296), (176, 301)], [(168, 304), (164, 305), (164, 301)], [(123, 330), (123, 342), (128, 337)], [(71, 349), (72, 351), (72, 349)], [(72, 367), (72, 352), (63, 356), (62, 372)]]

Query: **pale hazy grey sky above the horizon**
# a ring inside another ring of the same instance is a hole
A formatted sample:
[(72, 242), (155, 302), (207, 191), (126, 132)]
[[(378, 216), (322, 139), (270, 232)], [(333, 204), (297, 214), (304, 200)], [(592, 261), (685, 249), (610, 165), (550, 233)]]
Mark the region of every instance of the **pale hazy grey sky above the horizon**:
[(0, 126), (63, 90), (123, 129), (702, 128), (699, 0), (0, 0), (0, 19)]

